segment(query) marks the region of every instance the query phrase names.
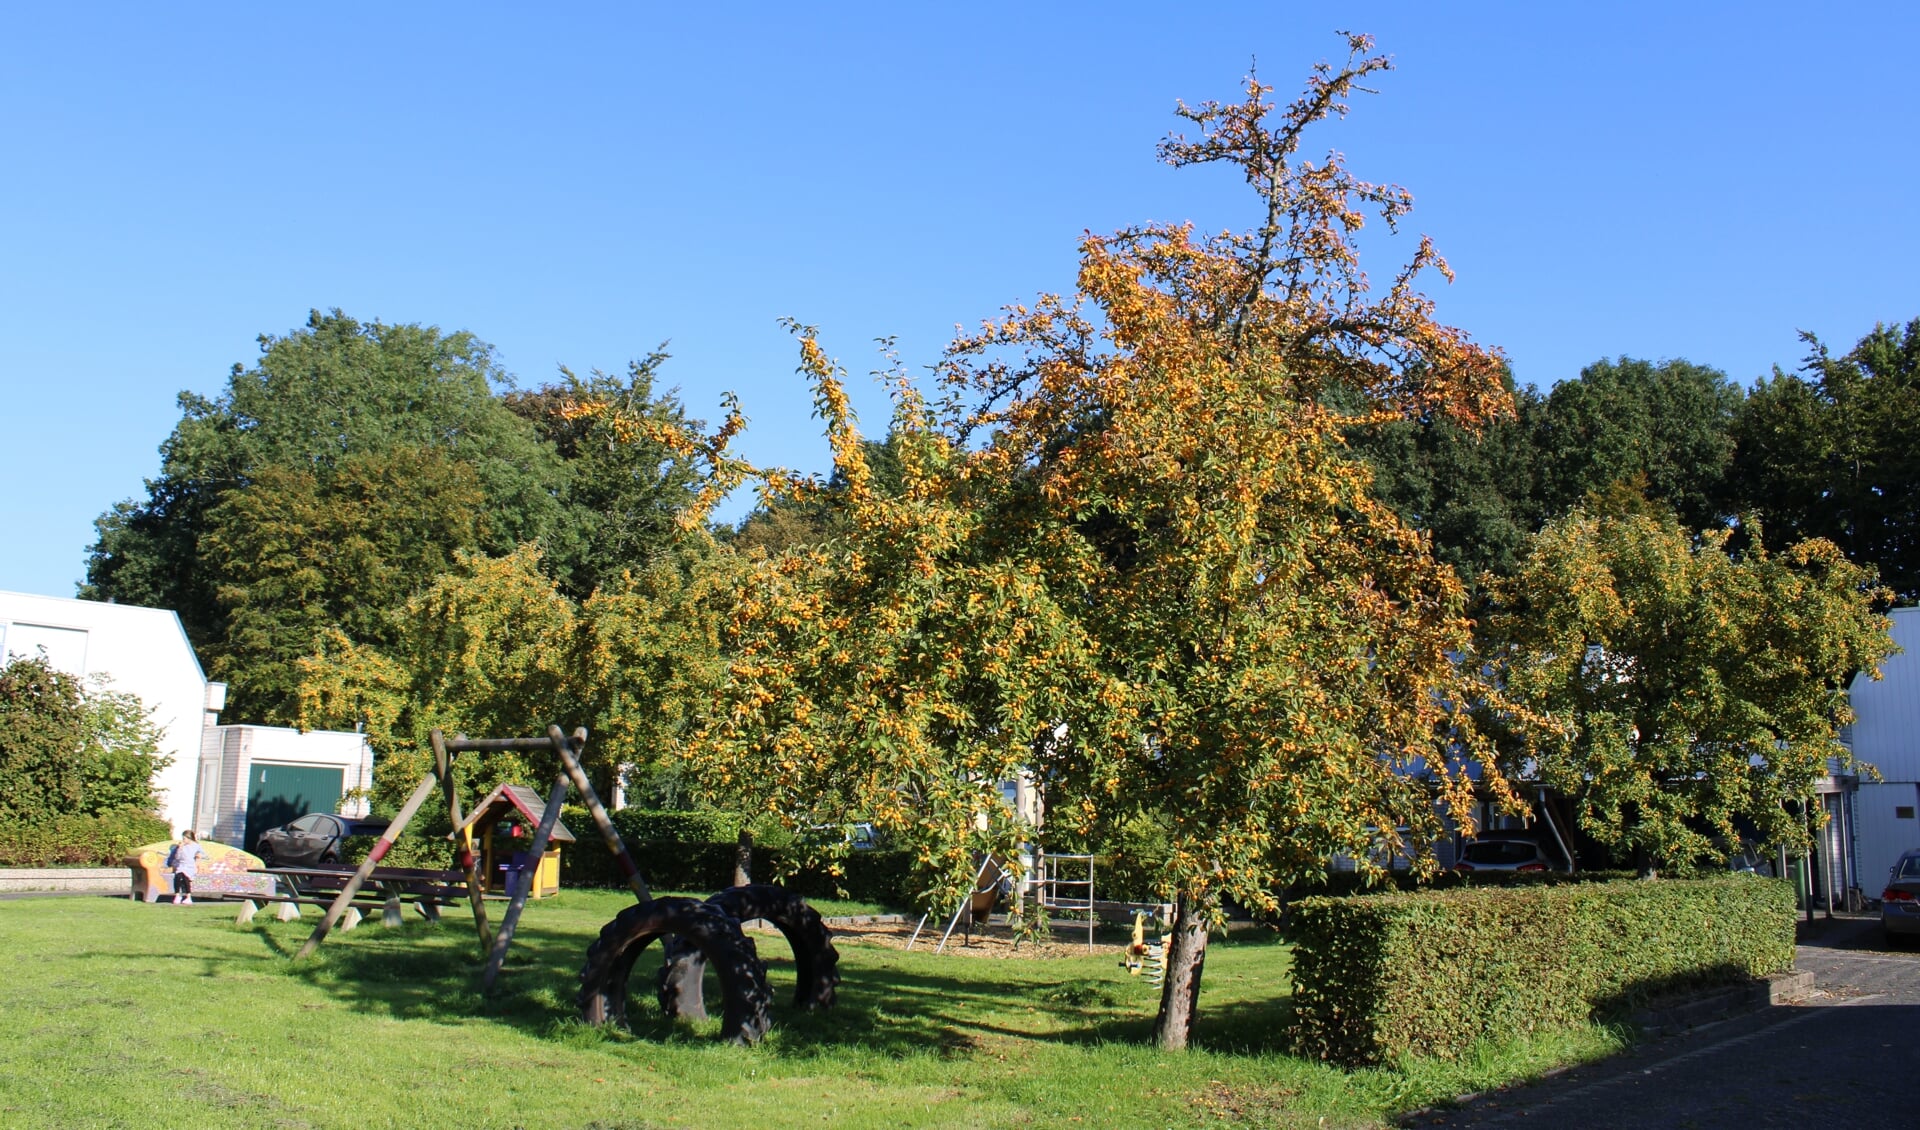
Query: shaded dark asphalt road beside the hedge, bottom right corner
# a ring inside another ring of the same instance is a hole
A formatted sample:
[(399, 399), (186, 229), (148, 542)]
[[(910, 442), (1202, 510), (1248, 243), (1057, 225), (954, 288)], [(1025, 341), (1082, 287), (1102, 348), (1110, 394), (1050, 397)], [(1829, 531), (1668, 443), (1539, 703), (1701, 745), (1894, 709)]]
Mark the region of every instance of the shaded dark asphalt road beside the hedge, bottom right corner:
[(1799, 946), (1816, 994), (1630, 1055), (1498, 1092), (1413, 1126), (1916, 1126), (1920, 953), (1885, 952), (1874, 921), (1824, 925)]

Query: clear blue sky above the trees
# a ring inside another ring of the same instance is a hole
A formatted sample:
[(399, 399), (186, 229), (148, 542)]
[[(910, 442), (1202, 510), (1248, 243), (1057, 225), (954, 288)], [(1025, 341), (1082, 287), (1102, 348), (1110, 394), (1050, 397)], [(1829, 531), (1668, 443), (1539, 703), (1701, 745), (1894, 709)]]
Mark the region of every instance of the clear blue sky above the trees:
[(1083, 230), (1252, 223), (1154, 142), (1342, 27), (1398, 69), (1311, 148), (1413, 190), (1442, 318), (1521, 380), (1747, 382), (1920, 317), (1910, 4), (691, 8), (0, 15), (0, 589), (71, 595), (175, 395), (311, 307), (472, 330), (522, 384), (670, 341), (695, 414), (735, 389), (749, 455), (820, 468), (778, 318), (920, 366), (1068, 288)]

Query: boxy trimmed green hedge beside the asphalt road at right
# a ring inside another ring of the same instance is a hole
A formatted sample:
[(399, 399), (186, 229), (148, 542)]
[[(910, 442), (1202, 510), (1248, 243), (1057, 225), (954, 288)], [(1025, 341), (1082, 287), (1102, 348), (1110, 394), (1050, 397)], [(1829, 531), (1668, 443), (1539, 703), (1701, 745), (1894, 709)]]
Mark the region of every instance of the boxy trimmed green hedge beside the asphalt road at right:
[(1480, 1036), (1788, 969), (1793, 890), (1730, 875), (1309, 898), (1292, 934), (1296, 1053), (1452, 1059)]

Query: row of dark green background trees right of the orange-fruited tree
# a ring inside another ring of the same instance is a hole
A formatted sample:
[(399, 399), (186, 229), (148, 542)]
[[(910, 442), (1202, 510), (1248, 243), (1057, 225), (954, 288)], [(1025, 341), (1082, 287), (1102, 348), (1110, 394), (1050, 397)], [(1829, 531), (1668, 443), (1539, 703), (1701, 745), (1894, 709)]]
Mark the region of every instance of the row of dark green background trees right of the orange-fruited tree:
[(1630, 483), (1734, 549), (1834, 541), (1899, 600), (1920, 599), (1920, 318), (1749, 391), (1688, 361), (1597, 361), (1548, 393), (1515, 389), (1482, 430), (1411, 418), (1356, 436), (1377, 491), (1469, 579), (1513, 574), (1526, 537)]

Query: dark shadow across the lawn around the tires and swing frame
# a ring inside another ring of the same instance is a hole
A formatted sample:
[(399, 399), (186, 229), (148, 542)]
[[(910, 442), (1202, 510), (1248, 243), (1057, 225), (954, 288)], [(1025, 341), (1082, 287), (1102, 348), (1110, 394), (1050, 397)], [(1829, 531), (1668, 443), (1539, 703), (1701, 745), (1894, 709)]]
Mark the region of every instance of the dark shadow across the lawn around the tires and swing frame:
[[(480, 992), (478, 942), (455, 917), (440, 927), (415, 921), (392, 930), (361, 927), (328, 938), (317, 957), (298, 963), (290, 959), (298, 940), (280, 923), (252, 932), (278, 975), (303, 980), (359, 1013), (442, 1024), (486, 1021), (566, 1044), (628, 1040), (576, 1019), (574, 994), (591, 942), (578, 927), (522, 919), (493, 994)], [(960, 957), (947, 973), (900, 969), (897, 952), (866, 946), (851, 948), (852, 961), (843, 952), (845, 980), (833, 1009), (797, 1011), (789, 1003), (795, 975), (785, 942), (755, 934), (755, 944), (768, 963), (774, 994), (774, 1036), (766, 1046), (772, 1055), (810, 1057), (849, 1046), (891, 1057), (954, 1055), (1008, 1042), (1142, 1044), (1152, 1036), (1158, 996), (1137, 980), (1075, 975), (1085, 973), (1083, 963), (1048, 978), (1052, 961)], [(712, 1040), (718, 1023), (685, 1024), (660, 1013), (653, 1000), (657, 969), (659, 948), (651, 946), (628, 982), (632, 1038)], [(718, 1001), (712, 982), (707, 996)], [(1284, 1013), (1273, 1001), (1213, 1007), (1202, 998), (1206, 1048), (1273, 1051), (1283, 1024)]]

